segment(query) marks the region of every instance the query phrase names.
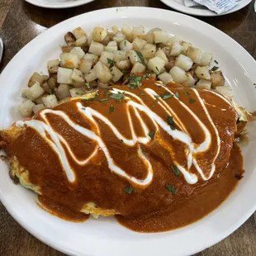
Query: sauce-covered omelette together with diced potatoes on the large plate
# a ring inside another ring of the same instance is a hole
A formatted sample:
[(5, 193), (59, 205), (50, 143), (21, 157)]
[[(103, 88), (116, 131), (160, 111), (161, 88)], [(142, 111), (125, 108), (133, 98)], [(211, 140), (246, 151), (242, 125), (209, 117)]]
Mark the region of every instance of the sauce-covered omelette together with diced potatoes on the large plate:
[(235, 137), (253, 116), (210, 53), (160, 29), (112, 30), (68, 32), (49, 76), (32, 75), (19, 106), (28, 118), (0, 131), (11, 178), (65, 220), (188, 225), (243, 177)]

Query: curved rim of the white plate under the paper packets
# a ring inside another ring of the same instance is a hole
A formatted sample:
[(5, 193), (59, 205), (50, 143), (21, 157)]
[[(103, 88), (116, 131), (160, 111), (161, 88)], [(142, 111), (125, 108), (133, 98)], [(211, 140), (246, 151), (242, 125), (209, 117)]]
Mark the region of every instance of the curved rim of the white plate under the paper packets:
[[(230, 9), (230, 11), (228, 11), (228, 12), (224, 12), (224, 13), (220, 13), (220, 14), (217, 14), (216, 12), (213, 12), (208, 9), (197, 9), (197, 8), (192, 8), (192, 7), (185, 7), (181, 4), (179, 4), (178, 2), (176, 2), (175, 0), (160, 0), (160, 1), (163, 2), (166, 6), (171, 7), (178, 12), (183, 12), (188, 15), (199, 16), (199, 17), (219, 17), (219, 16), (231, 14), (233, 12), (238, 12), (239, 10), (248, 6), (249, 3), (252, 2), (253, 0), (244, 0), (239, 8), (237, 8), (238, 7), (237, 6), (237, 7)], [(241, 2), (239, 1), (238, 5), (240, 3)]]

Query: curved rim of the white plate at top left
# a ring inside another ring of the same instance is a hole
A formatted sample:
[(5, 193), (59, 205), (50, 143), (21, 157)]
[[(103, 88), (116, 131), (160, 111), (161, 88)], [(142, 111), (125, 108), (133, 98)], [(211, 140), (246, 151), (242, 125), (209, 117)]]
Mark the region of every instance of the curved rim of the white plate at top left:
[[(72, 1), (72, 2), (59, 2), (59, 4), (43, 4), (40, 2), (37, 2), (36, 0), (25, 0), (26, 2), (36, 6), (36, 7), (43, 7), (43, 8), (49, 8), (49, 9), (64, 9), (64, 8), (70, 8), (70, 7), (79, 7), (83, 4), (87, 4), (89, 2), (93, 2), (95, 0), (77, 0), (77, 1)], [(58, 23), (59, 24), (59, 23)], [(57, 25), (57, 24), (56, 24)]]

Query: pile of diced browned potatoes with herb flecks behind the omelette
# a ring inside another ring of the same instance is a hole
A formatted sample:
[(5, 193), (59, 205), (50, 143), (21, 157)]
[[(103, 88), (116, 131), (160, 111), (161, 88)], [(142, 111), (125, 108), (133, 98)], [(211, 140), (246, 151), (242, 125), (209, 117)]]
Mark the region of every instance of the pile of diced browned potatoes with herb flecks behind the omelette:
[(127, 84), (129, 77), (138, 73), (154, 75), (163, 83), (216, 89), (231, 96), (221, 70), (216, 66), (210, 69), (211, 53), (159, 28), (146, 34), (144, 26), (111, 29), (97, 26), (89, 35), (81, 27), (68, 32), (59, 59), (47, 62), (49, 75), (32, 75), (22, 93), (26, 100), (18, 107), (21, 115), (32, 116), (68, 97), (112, 84)]

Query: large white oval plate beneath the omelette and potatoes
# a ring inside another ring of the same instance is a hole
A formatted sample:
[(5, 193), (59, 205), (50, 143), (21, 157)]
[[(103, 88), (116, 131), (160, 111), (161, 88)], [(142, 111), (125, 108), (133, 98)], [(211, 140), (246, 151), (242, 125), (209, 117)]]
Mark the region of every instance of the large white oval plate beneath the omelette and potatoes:
[[(88, 22), (90, 21), (90, 22)], [(46, 72), (47, 59), (59, 56), (66, 31), (82, 26), (92, 31), (101, 24), (111, 27), (155, 26), (179, 34), (193, 45), (214, 53), (226, 81), (234, 89), (236, 101), (249, 110), (256, 109), (256, 63), (239, 44), (213, 26), (178, 12), (145, 7), (122, 7), (89, 12), (51, 27), (26, 45), (0, 76), (0, 123), (8, 127), (21, 116), (17, 104), (21, 91), (35, 71)], [(36, 206), (36, 195), (9, 178), (6, 164), (0, 163), (0, 198), (7, 211), (32, 235), (66, 254), (97, 256), (188, 255), (216, 244), (242, 225), (256, 209), (256, 123), (249, 124), (251, 140), (242, 147), (244, 178), (216, 211), (182, 229), (159, 234), (140, 234), (127, 230), (114, 218), (101, 217), (83, 224), (60, 220)], [(32, 153), (31, 153), (32, 154)]]

